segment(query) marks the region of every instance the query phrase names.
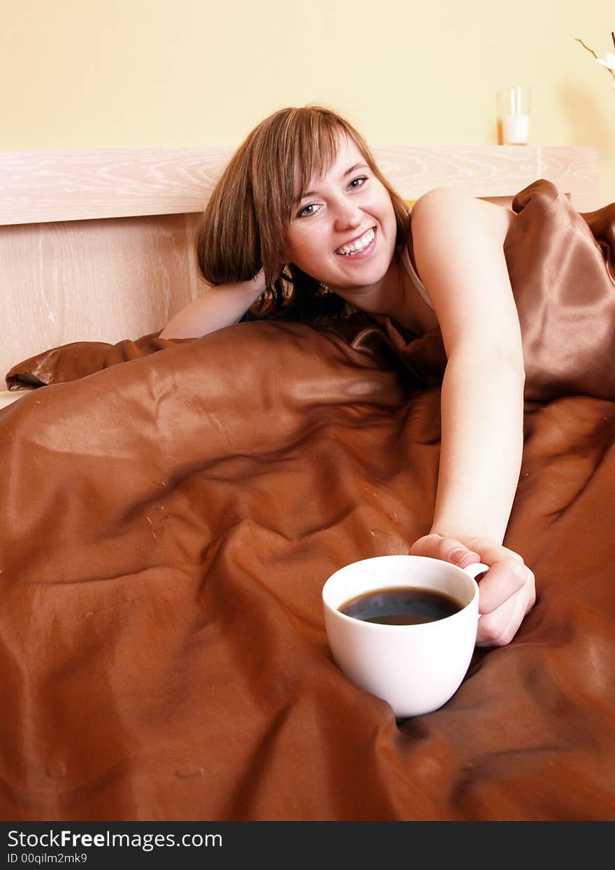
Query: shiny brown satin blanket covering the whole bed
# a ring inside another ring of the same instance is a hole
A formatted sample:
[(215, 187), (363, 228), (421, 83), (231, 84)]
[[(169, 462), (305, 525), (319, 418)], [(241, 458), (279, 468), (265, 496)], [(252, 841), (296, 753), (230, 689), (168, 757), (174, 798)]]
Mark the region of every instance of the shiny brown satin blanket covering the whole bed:
[(11, 370), (48, 385), (0, 412), (1, 818), (615, 819), (615, 205), (540, 181), (514, 208), (505, 544), (538, 599), (435, 713), (338, 670), (321, 587), (429, 528), (437, 331), (243, 323)]

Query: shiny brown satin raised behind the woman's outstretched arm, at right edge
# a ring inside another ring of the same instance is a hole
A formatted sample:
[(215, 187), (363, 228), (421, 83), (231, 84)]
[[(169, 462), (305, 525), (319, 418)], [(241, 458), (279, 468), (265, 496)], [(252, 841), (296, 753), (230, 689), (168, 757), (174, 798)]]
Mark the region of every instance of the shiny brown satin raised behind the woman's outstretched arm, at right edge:
[[(576, 211), (539, 179), (513, 200), (504, 251), (519, 311), (526, 398), (615, 398), (615, 204)], [(593, 233), (596, 233), (594, 236)]]

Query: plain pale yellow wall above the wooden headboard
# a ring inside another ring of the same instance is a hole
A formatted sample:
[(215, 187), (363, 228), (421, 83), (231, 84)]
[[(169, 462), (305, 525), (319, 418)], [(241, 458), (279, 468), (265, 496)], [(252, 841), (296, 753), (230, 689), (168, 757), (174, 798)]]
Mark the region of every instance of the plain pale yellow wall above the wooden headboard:
[[(0, 149), (236, 145), (321, 103), (374, 145), (495, 144), (533, 89), (532, 144), (593, 144), (615, 201), (612, 0), (0, 0)], [(8, 84), (10, 83), (10, 87)]]

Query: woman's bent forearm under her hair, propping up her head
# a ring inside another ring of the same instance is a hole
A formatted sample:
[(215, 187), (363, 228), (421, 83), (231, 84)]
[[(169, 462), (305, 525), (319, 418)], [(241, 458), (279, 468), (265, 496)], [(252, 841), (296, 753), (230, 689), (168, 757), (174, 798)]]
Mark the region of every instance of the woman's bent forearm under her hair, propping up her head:
[(230, 326), (248, 311), (264, 291), (262, 271), (251, 281), (211, 287), (195, 302), (175, 314), (160, 333), (160, 338), (199, 338)]

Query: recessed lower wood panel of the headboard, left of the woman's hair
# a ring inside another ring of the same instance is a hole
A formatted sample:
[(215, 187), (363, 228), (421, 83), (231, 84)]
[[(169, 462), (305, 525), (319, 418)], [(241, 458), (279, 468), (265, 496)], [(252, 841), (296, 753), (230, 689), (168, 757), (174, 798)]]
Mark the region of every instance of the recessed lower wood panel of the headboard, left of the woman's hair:
[(162, 329), (207, 289), (194, 229), (192, 215), (4, 227), (2, 375), (46, 348)]

